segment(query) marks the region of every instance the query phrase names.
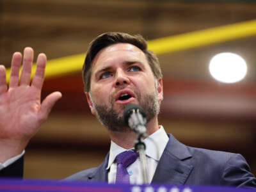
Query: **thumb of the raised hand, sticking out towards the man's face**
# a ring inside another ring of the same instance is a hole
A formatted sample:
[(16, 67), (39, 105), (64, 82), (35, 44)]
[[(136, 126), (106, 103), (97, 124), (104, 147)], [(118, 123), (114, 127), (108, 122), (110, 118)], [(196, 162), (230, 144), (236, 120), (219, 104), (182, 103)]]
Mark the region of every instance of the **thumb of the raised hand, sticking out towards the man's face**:
[(51, 112), (54, 104), (61, 99), (61, 97), (61, 92), (53, 92), (43, 100), (39, 113), (39, 117), (42, 121), (47, 119), (47, 116)]

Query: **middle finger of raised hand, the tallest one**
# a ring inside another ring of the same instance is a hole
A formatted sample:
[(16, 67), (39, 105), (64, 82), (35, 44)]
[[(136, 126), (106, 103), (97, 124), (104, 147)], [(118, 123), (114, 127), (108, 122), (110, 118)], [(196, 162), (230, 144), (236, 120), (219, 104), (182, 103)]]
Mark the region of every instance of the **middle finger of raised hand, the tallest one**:
[(22, 72), (20, 76), (20, 84), (29, 84), (31, 78), (31, 67), (34, 58), (34, 51), (31, 47), (24, 49)]

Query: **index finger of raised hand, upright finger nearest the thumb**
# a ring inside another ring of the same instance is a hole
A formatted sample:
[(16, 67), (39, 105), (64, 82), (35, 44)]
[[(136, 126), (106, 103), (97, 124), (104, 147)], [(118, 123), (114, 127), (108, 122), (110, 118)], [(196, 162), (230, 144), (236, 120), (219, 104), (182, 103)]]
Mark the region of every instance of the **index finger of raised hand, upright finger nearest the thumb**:
[(45, 73), (45, 66), (46, 66), (46, 55), (44, 53), (38, 54), (36, 60), (36, 72), (35, 76), (33, 77), (31, 86), (35, 86), (38, 89), (42, 89), (44, 84), (44, 73)]

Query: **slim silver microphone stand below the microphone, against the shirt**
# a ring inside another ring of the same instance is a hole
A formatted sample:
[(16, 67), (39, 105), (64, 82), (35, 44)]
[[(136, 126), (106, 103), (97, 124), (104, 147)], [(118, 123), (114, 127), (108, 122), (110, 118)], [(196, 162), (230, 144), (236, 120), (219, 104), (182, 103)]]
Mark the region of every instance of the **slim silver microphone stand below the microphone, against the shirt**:
[(143, 137), (143, 134), (138, 134), (138, 139), (134, 143), (134, 148), (136, 152), (138, 152), (140, 157), (142, 175), (143, 175), (143, 184), (149, 184), (147, 158), (145, 153), (146, 145), (143, 142), (142, 137)]

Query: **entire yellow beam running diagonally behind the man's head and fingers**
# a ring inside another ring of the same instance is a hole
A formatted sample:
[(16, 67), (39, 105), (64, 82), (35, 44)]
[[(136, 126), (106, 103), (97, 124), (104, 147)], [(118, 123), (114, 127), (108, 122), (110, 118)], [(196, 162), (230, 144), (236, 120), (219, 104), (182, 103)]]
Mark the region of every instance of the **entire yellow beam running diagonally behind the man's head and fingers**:
[[(227, 42), (253, 35), (256, 35), (256, 20), (249, 20), (227, 26), (150, 40), (148, 41), (148, 49), (154, 51), (156, 54), (164, 54)], [(67, 73), (81, 71), (84, 56), (85, 54), (76, 54), (49, 60), (47, 62), (45, 77), (61, 76)], [(32, 70), (35, 72), (35, 65)], [(7, 69), (6, 72), (7, 81), (9, 81), (10, 69)]]

